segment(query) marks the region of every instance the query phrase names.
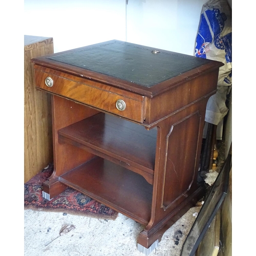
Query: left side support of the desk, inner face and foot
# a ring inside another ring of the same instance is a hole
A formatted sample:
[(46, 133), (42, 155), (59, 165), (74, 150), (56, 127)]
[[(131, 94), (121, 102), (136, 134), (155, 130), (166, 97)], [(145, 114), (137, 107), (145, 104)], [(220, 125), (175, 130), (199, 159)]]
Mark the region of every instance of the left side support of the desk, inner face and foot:
[(52, 95), (54, 170), (43, 184), (43, 196), (46, 199), (51, 200), (67, 188), (59, 181), (61, 175), (94, 157), (78, 147), (59, 143), (58, 130), (97, 113), (99, 112), (85, 105)]

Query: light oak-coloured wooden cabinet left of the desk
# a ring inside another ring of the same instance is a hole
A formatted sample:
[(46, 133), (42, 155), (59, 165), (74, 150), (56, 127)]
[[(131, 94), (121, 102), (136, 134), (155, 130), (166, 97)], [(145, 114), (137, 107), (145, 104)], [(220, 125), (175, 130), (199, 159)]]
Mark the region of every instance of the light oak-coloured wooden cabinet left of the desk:
[(53, 40), (33, 36), (29, 36), (28, 40), (26, 38), (27, 36), (24, 46), (24, 183), (53, 161), (50, 95), (35, 89), (33, 65), (30, 62), (32, 58), (53, 53)]

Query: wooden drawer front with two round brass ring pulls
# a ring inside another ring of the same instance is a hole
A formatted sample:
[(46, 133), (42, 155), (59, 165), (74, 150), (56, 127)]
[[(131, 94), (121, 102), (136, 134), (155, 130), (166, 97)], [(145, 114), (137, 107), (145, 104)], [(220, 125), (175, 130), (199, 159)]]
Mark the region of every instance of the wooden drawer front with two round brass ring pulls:
[[(35, 70), (36, 88), (142, 123), (143, 101), (86, 83)], [(47, 86), (48, 84), (48, 86)], [(138, 98), (137, 95), (134, 95)]]

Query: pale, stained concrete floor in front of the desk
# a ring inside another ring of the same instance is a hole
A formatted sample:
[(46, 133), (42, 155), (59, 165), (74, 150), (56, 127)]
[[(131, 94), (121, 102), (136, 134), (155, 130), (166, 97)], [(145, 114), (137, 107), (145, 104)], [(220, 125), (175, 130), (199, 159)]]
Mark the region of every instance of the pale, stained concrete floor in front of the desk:
[[(193, 207), (163, 235), (150, 255), (180, 256), (182, 245), (201, 207)], [(71, 227), (62, 232), (64, 225)], [(72, 226), (74, 225), (74, 226)], [(73, 229), (72, 229), (73, 227)], [(143, 226), (122, 214), (116, 220), (24, 210), (24, 255), (143, 256), (137, 237)]]

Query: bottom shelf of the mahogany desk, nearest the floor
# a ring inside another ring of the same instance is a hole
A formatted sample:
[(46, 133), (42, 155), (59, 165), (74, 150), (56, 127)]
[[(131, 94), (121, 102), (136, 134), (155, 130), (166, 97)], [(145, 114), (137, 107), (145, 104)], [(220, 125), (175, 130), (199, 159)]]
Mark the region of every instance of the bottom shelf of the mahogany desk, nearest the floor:
[(141, 175), (100, 157), (59, 177), (59, 181), (147, 225), (153, 186)]

